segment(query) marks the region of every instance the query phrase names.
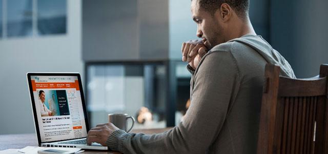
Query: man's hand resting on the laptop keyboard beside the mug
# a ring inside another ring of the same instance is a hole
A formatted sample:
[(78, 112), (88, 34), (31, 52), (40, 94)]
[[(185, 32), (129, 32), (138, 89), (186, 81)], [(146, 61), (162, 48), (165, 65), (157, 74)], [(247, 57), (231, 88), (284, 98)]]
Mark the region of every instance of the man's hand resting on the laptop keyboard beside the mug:
[(91, 128), (88, 132), (87, 143), (97, 142), (103, 146), (106, 146), (108, 137), (115, 131), (118, 130), (114, 124), (98, 124), (96, 127)]

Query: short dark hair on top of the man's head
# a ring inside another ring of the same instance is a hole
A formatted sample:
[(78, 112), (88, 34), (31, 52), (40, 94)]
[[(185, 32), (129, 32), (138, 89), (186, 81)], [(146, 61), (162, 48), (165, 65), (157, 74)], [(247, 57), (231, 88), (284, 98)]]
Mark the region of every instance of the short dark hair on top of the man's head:
[[(193, 1), (193, 0), (192, 0)], [(194, 0), (195, 1), (195, 0)], [(250, 1), (249, 0), (197, 0), (200, 4), (200, 8), (203, 8), (207, 12), (214, 14), (217, 9), (221, 7), (223, 3), (227, 3), (240, 18), (248, 16)]]

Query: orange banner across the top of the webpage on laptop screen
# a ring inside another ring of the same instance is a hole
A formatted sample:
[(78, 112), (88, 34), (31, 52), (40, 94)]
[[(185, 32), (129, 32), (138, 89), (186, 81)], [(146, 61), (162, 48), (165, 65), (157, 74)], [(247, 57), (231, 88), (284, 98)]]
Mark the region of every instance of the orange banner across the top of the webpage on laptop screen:
[(66, 88), (75, 88), (76, 90), (79, 89), (78, 81), (75, 82), (47, 82), (47, 83), (35, 83), (34, 80), (32, 82), (32, 89), (36, 91), (36, 89), (66, 89)]

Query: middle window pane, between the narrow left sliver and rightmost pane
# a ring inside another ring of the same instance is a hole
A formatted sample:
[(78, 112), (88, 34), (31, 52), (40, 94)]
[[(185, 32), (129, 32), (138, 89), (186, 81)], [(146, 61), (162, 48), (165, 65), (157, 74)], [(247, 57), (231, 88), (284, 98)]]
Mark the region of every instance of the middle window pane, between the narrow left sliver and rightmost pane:
[(32, 35), (32, 0), (7, 0), (7, 36)]

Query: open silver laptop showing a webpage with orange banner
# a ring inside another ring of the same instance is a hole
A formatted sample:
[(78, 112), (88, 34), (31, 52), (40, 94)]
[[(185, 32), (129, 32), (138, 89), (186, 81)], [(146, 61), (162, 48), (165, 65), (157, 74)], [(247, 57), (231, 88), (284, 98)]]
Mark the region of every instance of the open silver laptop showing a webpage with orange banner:
[(79, 73), (27, 73), (39, 146), (108, 150), (87, 145), (89, 131)]

